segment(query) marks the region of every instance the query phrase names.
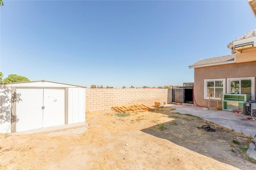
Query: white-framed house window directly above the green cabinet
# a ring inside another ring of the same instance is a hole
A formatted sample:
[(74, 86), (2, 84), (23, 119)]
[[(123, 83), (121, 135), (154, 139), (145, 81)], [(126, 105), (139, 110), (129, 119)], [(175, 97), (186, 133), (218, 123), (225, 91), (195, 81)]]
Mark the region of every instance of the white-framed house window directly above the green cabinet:
[(254, 100), (254, 77), (245, 78), (228, 78), (228, 93), (230, 94), (251, 94), (252, 100)]

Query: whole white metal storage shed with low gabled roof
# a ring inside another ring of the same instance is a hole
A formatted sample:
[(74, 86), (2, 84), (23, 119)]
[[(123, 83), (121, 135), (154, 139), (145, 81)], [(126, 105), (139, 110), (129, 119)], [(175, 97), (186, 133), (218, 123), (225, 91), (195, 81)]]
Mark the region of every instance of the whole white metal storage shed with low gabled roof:
[(0, 133), (85, 121), (85, 87), (45, 80), (0, 84)]

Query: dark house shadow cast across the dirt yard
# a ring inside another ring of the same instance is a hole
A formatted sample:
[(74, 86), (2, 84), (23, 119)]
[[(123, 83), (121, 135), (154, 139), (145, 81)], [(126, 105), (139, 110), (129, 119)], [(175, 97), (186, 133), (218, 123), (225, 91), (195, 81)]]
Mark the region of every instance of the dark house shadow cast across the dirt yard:
[[(142, 129), (142, 131), (236, 168), (248, 170), (256, 168), (256, 164), (246, 160), (242, 154), (241, 148), (248, 143), (245, 135), (235, 133), (200, 117), (170, 110), (172, 110), (170, 107), (153, 109), (152, 112), (162, 113), (163, 116), (174, 120)], [(198, 128), (203, 125), (209, 125), (216, 131)]]

